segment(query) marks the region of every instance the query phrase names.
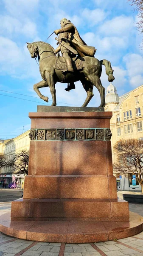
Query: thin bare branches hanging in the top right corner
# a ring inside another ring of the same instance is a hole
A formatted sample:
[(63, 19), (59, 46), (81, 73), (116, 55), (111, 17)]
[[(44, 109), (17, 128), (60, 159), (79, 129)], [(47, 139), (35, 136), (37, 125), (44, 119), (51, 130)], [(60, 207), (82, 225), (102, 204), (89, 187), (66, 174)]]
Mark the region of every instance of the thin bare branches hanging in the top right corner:
[[(140, 33), (143, 34), (143, 0), (128, 0), (131, 3), (131, 6), (134, 6), (134, 9), (138, 12), (138, 21), (137, 21), (137, 29)], [(143, 46), (142, 46), (143, 48)]]

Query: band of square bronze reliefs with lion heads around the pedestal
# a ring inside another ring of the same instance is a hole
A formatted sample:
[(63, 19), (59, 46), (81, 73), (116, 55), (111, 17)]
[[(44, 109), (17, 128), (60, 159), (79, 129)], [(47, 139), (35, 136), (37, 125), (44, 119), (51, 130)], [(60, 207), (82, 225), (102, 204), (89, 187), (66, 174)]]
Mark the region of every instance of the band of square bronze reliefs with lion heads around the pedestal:
[(31, 129), (31, 140), (111, 140), (109, 128)]

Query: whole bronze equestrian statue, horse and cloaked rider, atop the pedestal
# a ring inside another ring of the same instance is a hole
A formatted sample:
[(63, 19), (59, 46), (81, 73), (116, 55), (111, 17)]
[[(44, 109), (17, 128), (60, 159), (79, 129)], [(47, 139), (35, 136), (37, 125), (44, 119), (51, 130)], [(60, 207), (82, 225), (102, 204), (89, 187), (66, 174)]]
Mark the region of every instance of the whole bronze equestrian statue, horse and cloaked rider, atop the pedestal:
[[(112, 75), (113, 70), (111, 63), (107, 60), (99, 61), (94, 58), (95, 47), (87, 46), (80, 38), (76, 27), (67, 19), (61, 20), (61, 29), (55, 30), (55, 34), (61, 34), (58, 38), (59, 47), (55, 49), (45, 42), (27, 43), (31, 58), (38, 56), (39, 71), (42, 76), (42, 81), (34, 84), (34, 90), (38, 96), (48, 102), (48, 97), (40, 93), (39, 88), (50, 87), (52, 95), (52, 106), (56, 106), (56, 82), (70, 83), (70, 86), (65, 90), (74, 89), (74, 82), (81, 81), (84, 90), (87, 92), (82, 107), (86, 107), (93, 97), (93, 85), (98, 89), (101, 97), (99, 107), (105, 106), (105, 88), (101, 84), (102, 65), (106, 68), (108, 81), (113, 81), (115, 78)], [(62, 56), (57, 52), (61, 50)]]

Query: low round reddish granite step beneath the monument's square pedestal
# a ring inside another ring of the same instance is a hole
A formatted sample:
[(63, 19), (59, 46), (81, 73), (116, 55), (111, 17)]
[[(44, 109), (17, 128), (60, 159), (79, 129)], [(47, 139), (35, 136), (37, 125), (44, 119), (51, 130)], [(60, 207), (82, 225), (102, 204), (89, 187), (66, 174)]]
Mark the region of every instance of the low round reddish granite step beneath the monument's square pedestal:
[(129, 222), (113, 221), (11, 221), (0, 216), (0, 232), (20, 239), (55, 243), (90, 243), (122, 239), (143, 230), (143, 217), (130, 212)]

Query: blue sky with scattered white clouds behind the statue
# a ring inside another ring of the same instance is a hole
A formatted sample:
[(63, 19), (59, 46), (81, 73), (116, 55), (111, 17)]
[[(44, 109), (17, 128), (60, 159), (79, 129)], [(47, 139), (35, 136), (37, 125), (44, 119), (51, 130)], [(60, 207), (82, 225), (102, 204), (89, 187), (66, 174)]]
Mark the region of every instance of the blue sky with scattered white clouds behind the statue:
[[(97, 51), (95, 58), (112, 64), (119, 96), (143, 84), (143, 35), (137, 31), (137, 12), (128, 0), (0, 0), (0, 139), (14, 138), (30, 129), (28, 112), (37, 105), (51, 105), (49, 87), (40, 89), (49, 97), (39, 99), (33, 85), (42, 80), (26, 42), (45, 41), (66, 17), (81, 38)], [(56, 48), (55, 34), (48, 43)], [(103, 71), (102, 85), (109, 85)], [(81, 106), (86, 98), (81, 82), (66, 92), (67, 84), (56, 84), (58, 106)], [(94, 87), (88, 107), (98, 107)]]

